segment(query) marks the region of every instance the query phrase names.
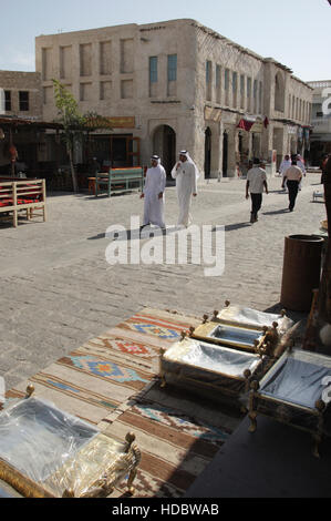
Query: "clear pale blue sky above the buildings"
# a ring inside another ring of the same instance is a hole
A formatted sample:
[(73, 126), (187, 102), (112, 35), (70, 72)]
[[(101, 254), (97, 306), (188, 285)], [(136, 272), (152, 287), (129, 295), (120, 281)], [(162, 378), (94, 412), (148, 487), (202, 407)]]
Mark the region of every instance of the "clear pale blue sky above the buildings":
[(190, 18), (303, 81), (331, 79), (327, 0), (0, 0), (0, 69), (34, 71), (34, 38)]

